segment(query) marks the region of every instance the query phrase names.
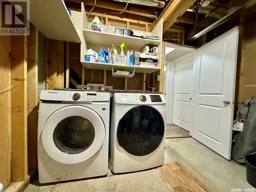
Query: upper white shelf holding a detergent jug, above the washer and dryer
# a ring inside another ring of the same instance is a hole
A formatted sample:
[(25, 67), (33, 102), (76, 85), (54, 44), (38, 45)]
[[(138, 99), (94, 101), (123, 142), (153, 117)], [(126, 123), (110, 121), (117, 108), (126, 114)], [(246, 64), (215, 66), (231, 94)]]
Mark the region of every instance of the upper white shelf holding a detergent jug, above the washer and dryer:
[(144, 39), (133, 36), (118, 35), (113, 33), (97, 32), (90, 29), (83, 29), (83, 36), (88, 45), (108, 45), (120, 46), (122, 42), (127, 42), (127, 50), (142, 50), (145, 46), (156, 46), (161, 44), (160, 40)]

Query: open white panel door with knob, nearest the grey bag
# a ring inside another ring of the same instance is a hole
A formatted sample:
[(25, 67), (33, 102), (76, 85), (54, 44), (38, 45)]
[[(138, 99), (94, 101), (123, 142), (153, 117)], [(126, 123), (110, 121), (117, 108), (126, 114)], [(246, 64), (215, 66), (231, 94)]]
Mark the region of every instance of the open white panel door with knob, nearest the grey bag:
[(239, 28), (197, 50), (192, 136), (230, 159)]

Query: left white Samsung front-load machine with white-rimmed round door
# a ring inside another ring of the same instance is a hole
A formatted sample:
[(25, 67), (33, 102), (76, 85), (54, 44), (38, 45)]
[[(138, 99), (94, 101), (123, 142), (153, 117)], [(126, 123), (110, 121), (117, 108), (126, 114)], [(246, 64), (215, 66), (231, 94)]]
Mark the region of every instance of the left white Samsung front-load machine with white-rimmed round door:
[(110, 94), (41, 91), (38, 111), (40, 183), (108, 174)]

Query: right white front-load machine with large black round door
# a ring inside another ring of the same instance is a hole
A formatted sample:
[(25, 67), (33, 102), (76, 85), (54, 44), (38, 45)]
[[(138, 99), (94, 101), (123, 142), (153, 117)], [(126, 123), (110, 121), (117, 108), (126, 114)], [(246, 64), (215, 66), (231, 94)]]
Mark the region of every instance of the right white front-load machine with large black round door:
[(163, 94), (114, 94), (111, 123), (114, 173), (135, 172), (164, 163), (165, 104)]

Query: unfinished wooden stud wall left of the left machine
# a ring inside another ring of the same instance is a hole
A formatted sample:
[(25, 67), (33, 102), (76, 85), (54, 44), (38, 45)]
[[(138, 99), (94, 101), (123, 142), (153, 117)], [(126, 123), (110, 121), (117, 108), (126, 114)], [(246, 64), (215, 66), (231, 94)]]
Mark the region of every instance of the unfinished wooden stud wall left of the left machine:
[(37, 170), (37, 40), (32, 24), (29, 36), (0, 36), (0, 182), (10, 191)]

